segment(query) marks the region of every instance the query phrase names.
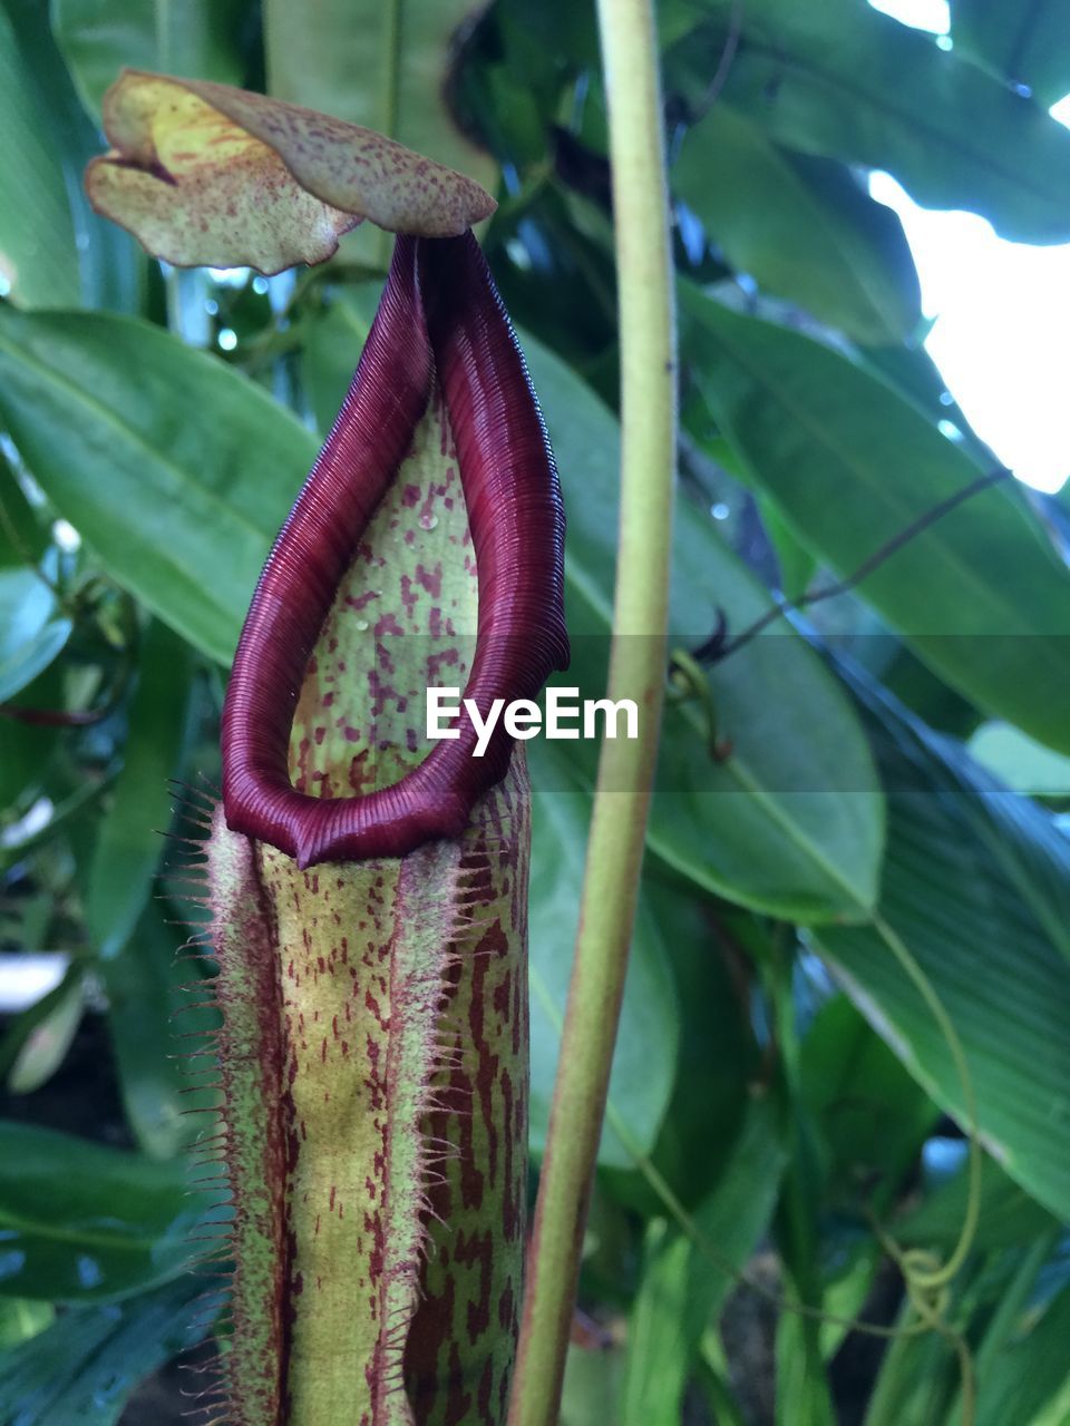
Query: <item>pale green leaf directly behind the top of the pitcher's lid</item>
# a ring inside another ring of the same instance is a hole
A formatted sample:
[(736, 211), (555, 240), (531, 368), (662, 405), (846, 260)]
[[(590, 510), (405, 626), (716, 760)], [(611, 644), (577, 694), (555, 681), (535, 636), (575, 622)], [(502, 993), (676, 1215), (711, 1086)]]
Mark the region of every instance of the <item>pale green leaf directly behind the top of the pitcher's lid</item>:
[[(472, 0), (265, 0), (271, 93), (374, 128), (494, 188), (496, 165), (451, 110), (451, 68)], [(395, 24), (398, 29), (392, 29)]]

